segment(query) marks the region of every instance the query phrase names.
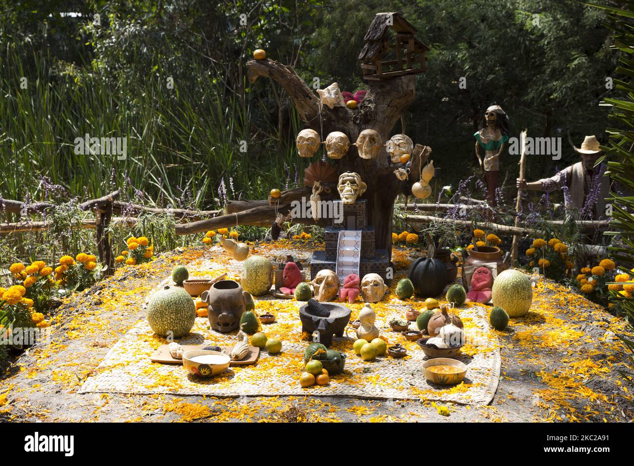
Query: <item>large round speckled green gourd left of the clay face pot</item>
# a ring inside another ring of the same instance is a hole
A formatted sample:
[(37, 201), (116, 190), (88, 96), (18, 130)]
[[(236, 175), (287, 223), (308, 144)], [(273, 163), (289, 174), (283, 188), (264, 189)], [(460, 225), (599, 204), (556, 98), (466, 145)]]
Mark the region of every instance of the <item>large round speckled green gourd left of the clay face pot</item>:
[(160, 337), (187, 335), (195, 321), (196, 306), (184, 288), (167, 286), (148, 302), (148, 323)]

